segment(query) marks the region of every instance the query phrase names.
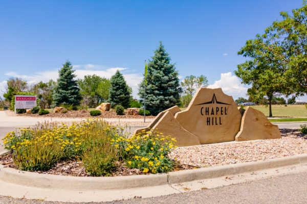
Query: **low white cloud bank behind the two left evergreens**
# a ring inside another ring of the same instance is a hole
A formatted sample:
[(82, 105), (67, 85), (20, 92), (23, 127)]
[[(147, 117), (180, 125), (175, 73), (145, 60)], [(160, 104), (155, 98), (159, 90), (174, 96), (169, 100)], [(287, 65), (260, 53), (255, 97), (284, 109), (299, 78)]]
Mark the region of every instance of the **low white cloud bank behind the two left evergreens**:
[[(104, 77), (104, 78), (109, 79), (112, 77), (112, 75), (115, 74), (117, 70), (125, 71), (128, 69), (124, 67), (113, 67), (113, 68), (106, 69), (104, 66), (93, 65), (93, 64), (73, 65), (73, 68), (76, 70), (75, 71), (76, 79), (83, 79), (85, 75), (92, 75), (92, 74), (96, 74), (99, 77)], [(56, 81), (58, 78), (58, 69), (36, 72), (31, 75), (23, 75), (23, 74), (18, 74), (16, 72), (10, 71), (10, 72), (6, 72), (5, 75), (7, 75), (8, 77), (18, 77), (18, 78), (28, 81), (29, 84), (33, 84), (39, 81), (47, 82), (51, 79)], [(127, 84), (132, 88), (133, 97), (138, 98), (138, 84), (143, 79), (143, 75), (141, 73), (124, 73), (124, 72), (123, 72), (123, 75), (124, 75), (124, 78)], [(0, 83), (0, 91), (1, 91), (1, 88), (4, 90), (5, 85), (6, 85), (6, 81)]]

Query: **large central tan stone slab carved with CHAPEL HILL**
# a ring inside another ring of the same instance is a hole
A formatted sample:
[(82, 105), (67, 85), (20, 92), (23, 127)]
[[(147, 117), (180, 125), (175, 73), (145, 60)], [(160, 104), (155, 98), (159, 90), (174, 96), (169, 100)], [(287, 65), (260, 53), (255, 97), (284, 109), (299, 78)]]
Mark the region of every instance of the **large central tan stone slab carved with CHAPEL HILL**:
[(233, 141), (242, 115), (232, 96), (221, 88), (200, 88), (188, 108), (175, 114), (185, 130), (200, 138), (201, 144)]

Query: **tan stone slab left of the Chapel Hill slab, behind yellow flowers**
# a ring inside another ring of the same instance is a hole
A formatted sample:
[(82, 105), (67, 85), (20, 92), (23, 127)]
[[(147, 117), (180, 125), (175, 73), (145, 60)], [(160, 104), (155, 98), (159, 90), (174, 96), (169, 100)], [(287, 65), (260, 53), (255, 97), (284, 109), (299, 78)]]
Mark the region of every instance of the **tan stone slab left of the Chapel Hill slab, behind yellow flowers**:
[(153, 131), (163, 133), (165, 136), (176, 138), (177, 146), (190, 146), (200, 144), (200, 139), (185, 130), (180, 123), (174, 118), (170, 111), (163, 114), (160, 120), (153, 126)]

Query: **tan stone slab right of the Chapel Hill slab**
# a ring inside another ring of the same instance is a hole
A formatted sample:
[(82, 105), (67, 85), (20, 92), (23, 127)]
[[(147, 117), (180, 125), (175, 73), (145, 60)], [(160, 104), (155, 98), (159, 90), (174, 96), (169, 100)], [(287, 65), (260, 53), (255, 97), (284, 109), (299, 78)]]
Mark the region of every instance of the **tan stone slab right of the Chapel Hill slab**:
[(277, 125), (272, 124), (262, 112), (247, 107), (235, 141), (281, 138)]

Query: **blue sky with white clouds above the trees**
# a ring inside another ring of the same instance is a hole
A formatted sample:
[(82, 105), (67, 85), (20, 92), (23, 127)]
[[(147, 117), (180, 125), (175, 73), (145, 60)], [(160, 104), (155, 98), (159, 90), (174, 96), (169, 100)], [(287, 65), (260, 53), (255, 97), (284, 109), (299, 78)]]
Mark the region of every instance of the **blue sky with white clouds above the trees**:
[(301, 6), (302, 0), (0, 0), (0, 90), (10, 77), (56, 79), (69, 59), (78, 78), (109, 78), (119, 68), (137, 96), (144, 60), (161, 40), (181, 77), (204, 74), (210, 87), (246, 97), (233, 76), (245, 61), (237, 51), (280, 20), (280, 11)]

